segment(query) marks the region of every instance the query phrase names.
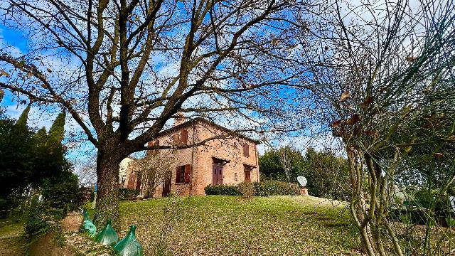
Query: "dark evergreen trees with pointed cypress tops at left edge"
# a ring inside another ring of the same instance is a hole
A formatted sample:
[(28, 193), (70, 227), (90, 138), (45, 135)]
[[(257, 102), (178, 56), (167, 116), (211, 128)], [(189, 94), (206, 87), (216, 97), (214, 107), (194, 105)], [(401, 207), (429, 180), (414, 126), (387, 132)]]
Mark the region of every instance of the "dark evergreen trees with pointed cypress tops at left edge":
[[(30, 105), (17, 122), (0, 119), (0, 198), (11, 199), (36, 190), (48, 178), (71, 170), (60, 141), (49, 139), (44, 127), (35, 132), (27, 126)], [(63, 122), (62, 122), (63, 120)], [(63, 134), (64, 114), (53, 124), (53, 134)]]

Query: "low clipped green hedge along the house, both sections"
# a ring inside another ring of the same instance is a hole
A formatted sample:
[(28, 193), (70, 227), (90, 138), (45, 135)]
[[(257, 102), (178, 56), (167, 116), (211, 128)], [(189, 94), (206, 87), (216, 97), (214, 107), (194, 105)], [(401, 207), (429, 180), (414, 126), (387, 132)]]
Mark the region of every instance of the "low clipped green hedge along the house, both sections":
[[(300, 188), (297, 184), (289, 184), (282, 181), (261, 181), (252, 183), (255, 196), (286, 196), (300, 195)], [(204, 188), (206, 195), (218, 196), (242, 196), (245, 188), (240, 185), (208, 185)]]

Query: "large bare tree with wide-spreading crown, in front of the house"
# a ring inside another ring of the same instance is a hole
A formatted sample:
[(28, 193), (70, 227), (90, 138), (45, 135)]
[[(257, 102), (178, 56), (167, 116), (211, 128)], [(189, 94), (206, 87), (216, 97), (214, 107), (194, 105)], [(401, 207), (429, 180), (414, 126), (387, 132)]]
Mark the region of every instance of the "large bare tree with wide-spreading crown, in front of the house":
[(117, 225), (120, 161), (168, 148), (145, 145), (177, 112), (243, 120), (236, 132), (285, 128), (283, 89), (299, 72), (294, 4), (2, 0), (5, 26), (28, 46), (2, 50), (0, 88), (68, 110), (97, 148), (95, 220)]

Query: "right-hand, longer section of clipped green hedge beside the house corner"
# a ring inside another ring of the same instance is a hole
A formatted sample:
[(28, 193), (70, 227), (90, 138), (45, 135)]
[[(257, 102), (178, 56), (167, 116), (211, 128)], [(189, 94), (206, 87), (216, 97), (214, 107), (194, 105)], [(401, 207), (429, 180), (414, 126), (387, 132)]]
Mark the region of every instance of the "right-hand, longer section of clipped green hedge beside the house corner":
[(282, 181), (261, 181), (255, 182), (255, 196), (285, 196), (300, 195), (300, 188), (297, 184), (289, 184)]

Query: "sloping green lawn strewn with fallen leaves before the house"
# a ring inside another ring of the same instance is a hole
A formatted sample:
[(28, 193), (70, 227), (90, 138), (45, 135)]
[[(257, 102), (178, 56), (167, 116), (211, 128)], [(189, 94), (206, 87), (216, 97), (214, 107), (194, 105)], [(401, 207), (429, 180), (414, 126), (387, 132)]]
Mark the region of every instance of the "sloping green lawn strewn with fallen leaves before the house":
[(145, 255), (360, 255), (348, 209), (311, 196), (192, 196), (120, 205)]

